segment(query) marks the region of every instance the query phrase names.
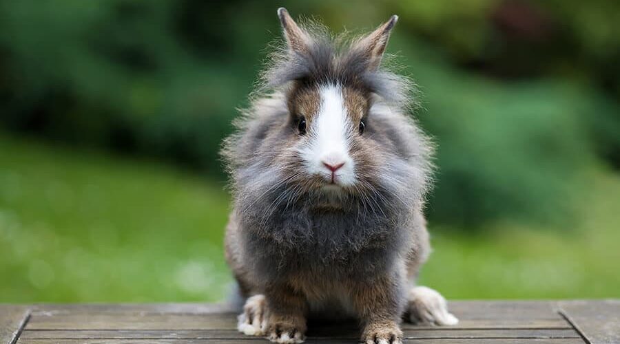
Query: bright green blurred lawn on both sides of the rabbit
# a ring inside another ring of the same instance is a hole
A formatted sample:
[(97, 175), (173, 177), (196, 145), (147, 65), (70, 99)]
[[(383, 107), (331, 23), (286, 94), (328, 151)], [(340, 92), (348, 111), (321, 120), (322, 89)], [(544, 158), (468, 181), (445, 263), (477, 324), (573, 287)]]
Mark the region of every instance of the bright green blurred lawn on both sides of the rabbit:
[[(216, 301), (223, 185), (0, 136), (0, 301)], [(586, 177), (584, 177), (586, 178)], [(422, 283), (457, 299), (620, 297), (620, 178), (595, 169), (571, 228), (431, 224)]]

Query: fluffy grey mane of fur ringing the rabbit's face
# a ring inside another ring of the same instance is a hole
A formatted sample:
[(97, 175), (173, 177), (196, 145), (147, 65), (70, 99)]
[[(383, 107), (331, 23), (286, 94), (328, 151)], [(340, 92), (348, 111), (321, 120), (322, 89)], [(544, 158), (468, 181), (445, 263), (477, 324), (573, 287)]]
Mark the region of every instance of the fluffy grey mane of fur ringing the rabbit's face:
[[(355, 40), (331, 39), (321, 28), (311, 32), (307, 52), (289, 52), (286, 46), (276, 50), (251, 106), (236, 121), (236, 133), (225, 140), (222, 153), (235, 212), (251, 232), (247, 244), (256, 255), (281, 255), (290, 248), (310, 250), (309, 255), (320, 250), (322, 257), (335, 258), (378, 242), (399, 251), (408, 234), (394, 228), (423, 221), (417, 217), (431, 186), (432, 145), (406, 115), (413, 104), (412, 83), (381, 67), (369, 69)], [(327, 196), (304, 189), (304, 180), (283, 172), (300, 167), (293, 158), (282, 159), (291, 144), (281, 128), (289, 116), (287, 89), (293, 83), (351, 85), (373, 94), (369, 117), (377, 129), (369, 140), (382, 147), (375, 154), (385, 164), (361, 175), (364, 189), (339, 196), (342, 208), (324, 215), (337, 224), (331, 229), (312, 210), (329, 201)], [(269, 242), (278, 247), (270, 249)]]

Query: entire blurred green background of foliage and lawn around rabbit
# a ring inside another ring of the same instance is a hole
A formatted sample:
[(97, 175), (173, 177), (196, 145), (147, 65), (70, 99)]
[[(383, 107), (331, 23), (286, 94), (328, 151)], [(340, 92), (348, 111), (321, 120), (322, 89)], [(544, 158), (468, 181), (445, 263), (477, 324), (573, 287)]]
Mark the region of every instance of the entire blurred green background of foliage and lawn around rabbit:
[(422, 282), (619, 297), (617, 1), (0, 1), (0, 301), (216, 300), (218, 148), (276, 8), (364, 32), (437, 143)]

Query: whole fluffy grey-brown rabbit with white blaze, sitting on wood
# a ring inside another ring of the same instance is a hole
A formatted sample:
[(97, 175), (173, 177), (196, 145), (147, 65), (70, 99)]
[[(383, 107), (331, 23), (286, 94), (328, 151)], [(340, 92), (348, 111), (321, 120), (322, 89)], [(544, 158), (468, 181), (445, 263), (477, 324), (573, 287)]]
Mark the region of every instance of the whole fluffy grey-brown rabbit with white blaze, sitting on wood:
[(302, 343), (307, 318), (351, 318), (364, 343), (395, 344), (403, 318), (457, 323), (410, 285), (430, 252), (433, 145), (408, 115), (412, 83), (380, 66), (398, 17), (349, 41), (278, 17), (285, 44), (222, 149), (238, 330)]

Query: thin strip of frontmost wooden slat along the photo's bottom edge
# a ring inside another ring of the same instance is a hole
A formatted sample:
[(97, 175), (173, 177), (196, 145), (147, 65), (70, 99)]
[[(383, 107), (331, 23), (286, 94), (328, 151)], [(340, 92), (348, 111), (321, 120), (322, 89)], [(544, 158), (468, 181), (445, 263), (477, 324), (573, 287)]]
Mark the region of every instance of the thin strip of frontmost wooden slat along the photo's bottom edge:
[[(58, 344), (56, 339), (20, 339), (18, 344)], [(62, 344), (258, 344), (269, 343), (262, 338), (254, 339), (66, 339)], [(309, 338), (307, 344), (342, 344), (342, 339), (312, 339)], [(357, 343), (357, 341), (347, 341), (344, 343)], [(424, 344), (583, 344), (581, 338), (499, 338), (499, 339), (405, 339), (404, 343), (424, 343)]]

